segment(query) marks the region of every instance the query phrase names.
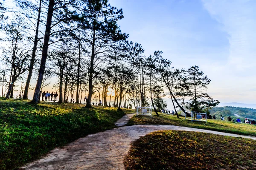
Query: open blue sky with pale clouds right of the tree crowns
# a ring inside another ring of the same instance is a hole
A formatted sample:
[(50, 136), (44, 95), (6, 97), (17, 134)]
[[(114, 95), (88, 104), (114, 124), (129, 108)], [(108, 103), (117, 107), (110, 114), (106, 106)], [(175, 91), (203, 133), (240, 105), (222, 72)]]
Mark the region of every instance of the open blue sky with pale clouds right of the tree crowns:
[(145, 55), (162, 50), (175, 68), (199, 65), (221, 102), (256, 103), (255, 0), (109, 0), (120, 28)]

